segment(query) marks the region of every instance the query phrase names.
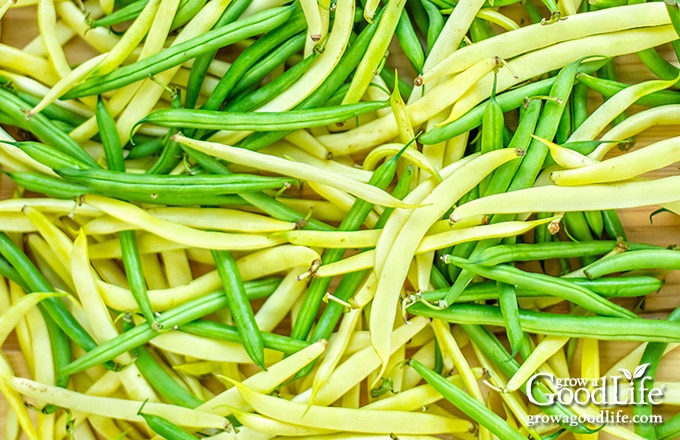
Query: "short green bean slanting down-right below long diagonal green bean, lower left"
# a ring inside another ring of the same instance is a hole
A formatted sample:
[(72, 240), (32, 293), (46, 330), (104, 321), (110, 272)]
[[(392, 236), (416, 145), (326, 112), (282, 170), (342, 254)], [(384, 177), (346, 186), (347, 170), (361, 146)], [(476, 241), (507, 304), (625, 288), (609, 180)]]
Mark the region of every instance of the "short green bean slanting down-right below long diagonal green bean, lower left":
[[(134, 328), (132, 316), (126, 315), (123, 321), (123, 330), (128, 331), (132, 328)], [(159, 362), (146, 347), (140, 345), (132, 350), (132, 355), (134, 356), (135, 365), (139, 368), (139, 371), (141, 371), (151, 386), (153, 386), (169, 402), (186, 408), (196, 408), (203, 403), (201, 399), (177, 383), (177, 381), (161, 367)]]

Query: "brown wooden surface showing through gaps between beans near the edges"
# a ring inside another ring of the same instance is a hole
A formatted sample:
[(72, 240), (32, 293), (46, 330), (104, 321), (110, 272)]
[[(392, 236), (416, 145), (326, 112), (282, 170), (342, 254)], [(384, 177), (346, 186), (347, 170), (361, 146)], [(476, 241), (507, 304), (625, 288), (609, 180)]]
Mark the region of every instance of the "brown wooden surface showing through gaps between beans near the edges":
[[(32, 8), (22, 8), (10, 11), (0, 22), (0, 41), (3, 43), (21, 46), (36, 34), (33, 26)], [(671, 58), (672, 59), (672, 58)], [(621, 67), (622, 81), (637, 81), (646, 78), (648, 73), (640, 65), (634, 56), (621, 57), (618, 60)], [(637, 137), (636, 145), (643, 146), (658, 139), (680, 135), (680, 124), (675, 127), (658, 127), (649, 130)], [(657, 175), (665, 173), (677, 173), (676, 166), (662, 170)], [(680, 191), (680, 189), (679, 189)], [(11, 192), (11, 184), (6, 176), (0, 176), (0, 199), (7, 197)], [(654, 207), (626, 209), (620, 211), (621, 220), (628, 232), (630, 241), (645, 242), (658, 245), (680, 244), (680, 216), (672, 214), (660, 214), (654, 217), (650, 223), (649, 215)], [(645, 315), (662, 319), (670, 310), (680, 305), (680, 273), (675, 272), (667, 277), (663, 288), (656, 294), (650, 295), (645, 303)], [(621, 332), (626, 329), (622, 328)], [(618, 358), (627, 353), (635, 344), (621, 344), (605, 342), (602, 344), (602, 370), (605, 371)], [(21, 359), (18, 343), (15, 337), (11, 337), (3, 346), (3, 353), (16, 369), (18, 375), (26, 374), (26, 367)], [(668, 354), (658, 372), (659, 380), (680, 379), (680, 350)], [(0, 397), (0, 438), (4, 437), (4, 422), (7, 411), (7, 402)]]

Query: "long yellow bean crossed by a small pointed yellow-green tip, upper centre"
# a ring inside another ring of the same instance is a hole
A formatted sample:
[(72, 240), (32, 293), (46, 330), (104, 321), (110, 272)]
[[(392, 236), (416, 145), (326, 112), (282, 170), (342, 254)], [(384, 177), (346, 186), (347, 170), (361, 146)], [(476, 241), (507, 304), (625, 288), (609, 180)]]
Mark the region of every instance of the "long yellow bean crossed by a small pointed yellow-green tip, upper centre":
[[(443, 81), (425, 97), (406, 106), (411, 125), (418, 126), (460, 99), (471, 87), (496, 66), (495, 58), (485, 58), (454, 78)], [(491, 90), (491, 86), (488, 87)], [(387, 115), (346, 131), (319, 136), (319, 141), (333, 154), (342, 156), (365, 151), (389, 142), (399, 135), (394, 116)]]

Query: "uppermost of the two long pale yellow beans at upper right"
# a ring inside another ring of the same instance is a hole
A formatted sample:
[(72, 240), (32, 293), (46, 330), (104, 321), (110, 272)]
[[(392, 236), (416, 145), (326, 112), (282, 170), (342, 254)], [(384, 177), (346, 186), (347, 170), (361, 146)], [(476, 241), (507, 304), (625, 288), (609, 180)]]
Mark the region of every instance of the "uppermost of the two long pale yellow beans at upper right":
[[(463, 47), (426, 70), (419, 77), (422, 84), (463, 71), (474, 63), (491, 56), (509, 60), (526, 52), (536, 51), (557, 43), (607, 34), (640, 26), (668, 24), (663, 8), (651, 4), (629, 5), (622, 8), (579, 13), (568, 20), (559, 20), (550, 26), (533, 24), (513, 32), (503, 32), (495, 37)], [(466, 28), (467, 29), (467, 28)]]

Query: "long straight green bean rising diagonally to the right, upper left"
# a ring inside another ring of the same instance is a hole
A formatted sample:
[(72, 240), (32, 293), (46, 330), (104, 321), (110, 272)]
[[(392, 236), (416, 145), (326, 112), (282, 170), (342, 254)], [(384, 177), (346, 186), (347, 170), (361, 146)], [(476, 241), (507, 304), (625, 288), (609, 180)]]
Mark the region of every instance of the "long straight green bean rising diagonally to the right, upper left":
[(216, 48), (266, 32), (288, 20), (291, 13), (291, 7), (270, 8), (236, 23), (210, 30), (109, 74), (89, 78), (64, 94), (62, 99), (98, 95), (132, 84)]

